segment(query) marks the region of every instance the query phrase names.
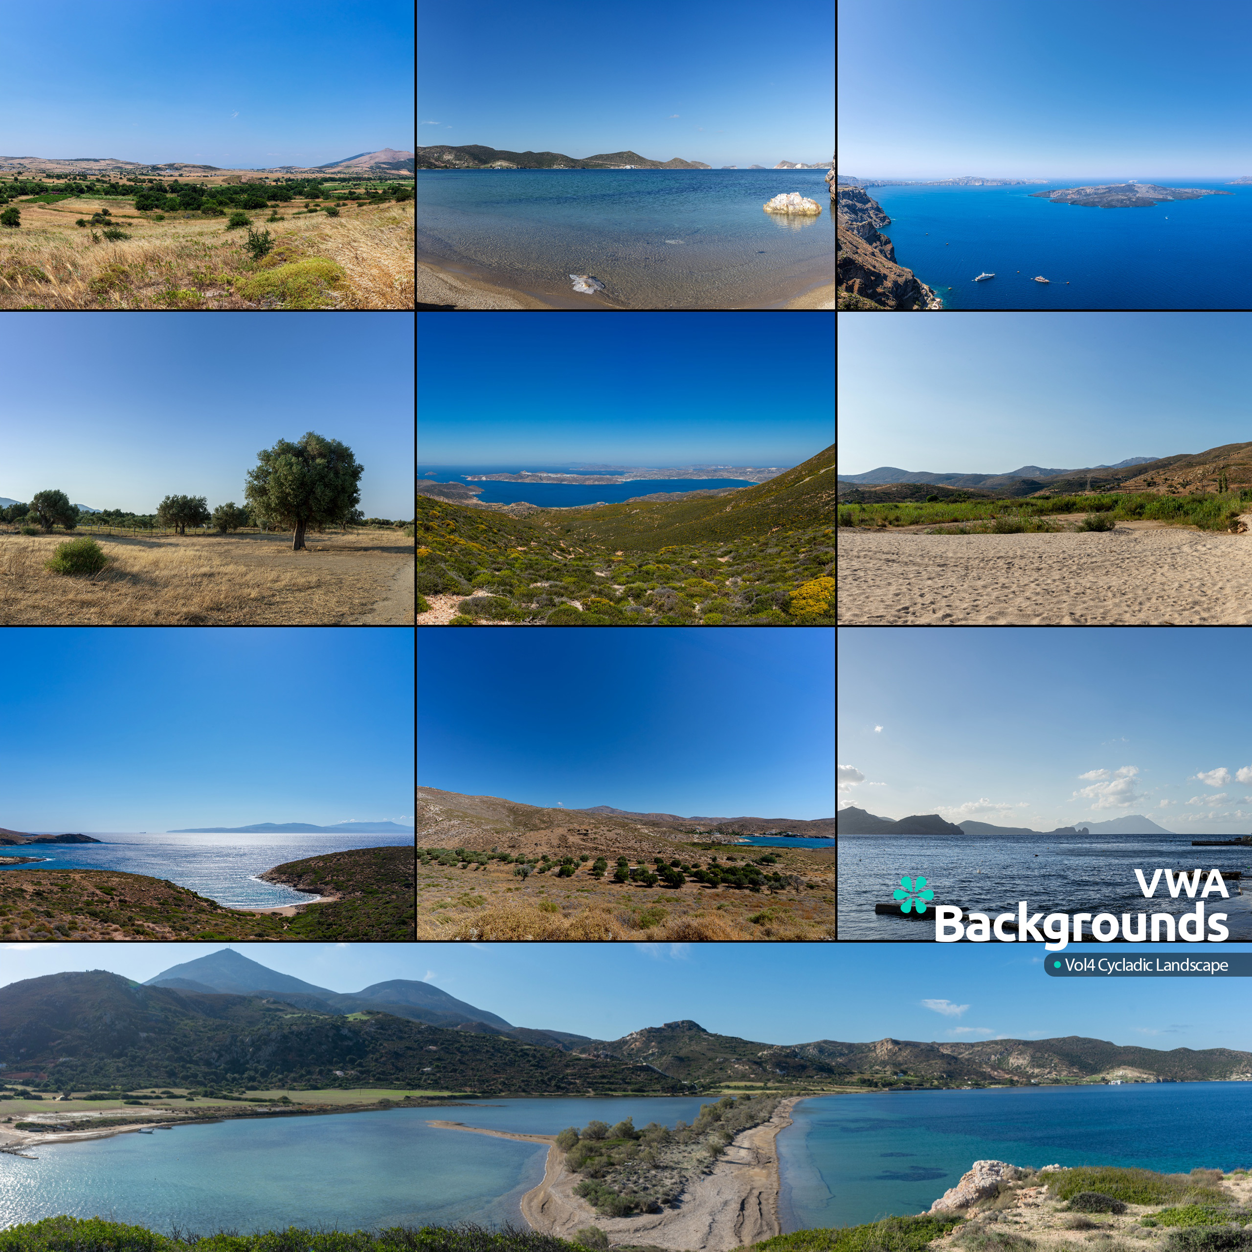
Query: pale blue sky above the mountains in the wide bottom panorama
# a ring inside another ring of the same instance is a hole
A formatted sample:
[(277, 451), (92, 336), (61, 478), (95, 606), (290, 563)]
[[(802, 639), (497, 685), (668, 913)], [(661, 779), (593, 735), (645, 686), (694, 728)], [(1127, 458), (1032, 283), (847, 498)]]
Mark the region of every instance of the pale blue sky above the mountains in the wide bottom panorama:
[[(6, 944), (0, 984), (66, 969), (143, 982), (222, 944)], [(513, 1025), (620, 1039), (690, 1018), (761, 1043), (891, 1037), (1060, 1038), (1144, 1048), (1252, 1049), (1243, 983), (1048, 978), (1017, 945), (924, 944), (232, 944), (270, 969), (336, 992), (391, 978), (427, 980)], [(1191, 957), (1246, 944), (1157, 945)], [(1101, 944), (1068, 949), (1099, 950)], [(1118, 953), (1121, 955), (1121, 953)], [(553, 968), (560, 977), (553, 977)], [(767, 988), (769, 1010), (744, 988)], [(948, 1012), (923, 1002), (944, 1004)], [(1239, 1005), (1243, 1008), (1239, 1008)], [(957, 1012), (959, 1010), (959, 1012)]]

